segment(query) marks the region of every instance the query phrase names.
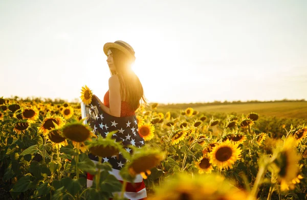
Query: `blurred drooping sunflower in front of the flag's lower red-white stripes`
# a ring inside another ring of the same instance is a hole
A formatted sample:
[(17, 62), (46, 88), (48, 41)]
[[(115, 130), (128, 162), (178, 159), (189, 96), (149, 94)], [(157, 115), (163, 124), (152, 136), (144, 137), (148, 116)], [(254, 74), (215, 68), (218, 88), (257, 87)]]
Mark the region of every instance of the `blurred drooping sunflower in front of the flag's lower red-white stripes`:
[(147, 174), (150, 175), (150, 169), (158, 165), (161, 160), (162, 154), (159, 150), (142, 149), (135, 151), (130, 163), (125, 167), (131, 176), (135, 177), (137, 174), (141, 174), (146, 179)]

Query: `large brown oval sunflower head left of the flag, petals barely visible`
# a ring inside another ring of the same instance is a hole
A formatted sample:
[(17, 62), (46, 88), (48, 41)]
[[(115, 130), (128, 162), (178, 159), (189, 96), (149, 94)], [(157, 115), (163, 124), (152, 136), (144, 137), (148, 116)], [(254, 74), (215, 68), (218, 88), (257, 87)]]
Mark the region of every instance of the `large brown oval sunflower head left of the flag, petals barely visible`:
[(80, 122), (68, 123), (63, 126), (62, 131), (63, 136), (77, 143), (84, 142), (86, 139), (91, 140), (92, 136), (95, 137), (95, 134), (92, 133), (89, 126)]

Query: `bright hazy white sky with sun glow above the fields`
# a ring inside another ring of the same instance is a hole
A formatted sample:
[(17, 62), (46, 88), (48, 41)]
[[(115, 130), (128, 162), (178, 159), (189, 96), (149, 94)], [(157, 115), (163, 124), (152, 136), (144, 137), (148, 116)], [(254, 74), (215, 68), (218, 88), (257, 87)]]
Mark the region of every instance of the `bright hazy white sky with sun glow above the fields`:
[(0, 96), (103, 99), (103, 45), (136, 52), (148, 102), (307, 100), (307, 1), (0, 0)]

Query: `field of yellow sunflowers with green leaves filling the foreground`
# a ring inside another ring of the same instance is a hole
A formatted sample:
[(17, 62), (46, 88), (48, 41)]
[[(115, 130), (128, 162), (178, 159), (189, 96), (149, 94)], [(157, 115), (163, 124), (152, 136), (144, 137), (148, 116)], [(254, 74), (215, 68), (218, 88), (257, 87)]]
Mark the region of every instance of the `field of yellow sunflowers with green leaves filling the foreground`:
[[(157, 103), (136, 114), (146, 145), (131, 146), (130, 155), (84, 125), (80, 104), (0, 98), (0, 198), (123, 199), (113, 193), (125, 184), (89, 152), (100, 161), (121, 153), (129, 161), (122, 177), (141, 174), (149, 199), (307, 198), (304, 123), (265, 123), (254, 112), (162, 112)], [(95, 174), (91, 188), (86, 172)]]

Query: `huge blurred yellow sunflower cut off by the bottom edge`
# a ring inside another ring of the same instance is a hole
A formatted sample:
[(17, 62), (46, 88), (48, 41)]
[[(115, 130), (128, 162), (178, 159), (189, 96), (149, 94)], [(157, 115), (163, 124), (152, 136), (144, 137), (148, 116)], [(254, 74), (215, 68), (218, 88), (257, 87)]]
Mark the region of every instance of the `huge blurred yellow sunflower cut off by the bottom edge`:
[(250, 199), (248, 193), (239, 190), (231, 181), (226, 180), (221, 175), (214, 173), (195, 174), (193, 178), (190, 174), (179, 173), (169, 178), (165, 187), (158, 188), (155, 194), (148, 200), (176, 200), (176, 199)]

